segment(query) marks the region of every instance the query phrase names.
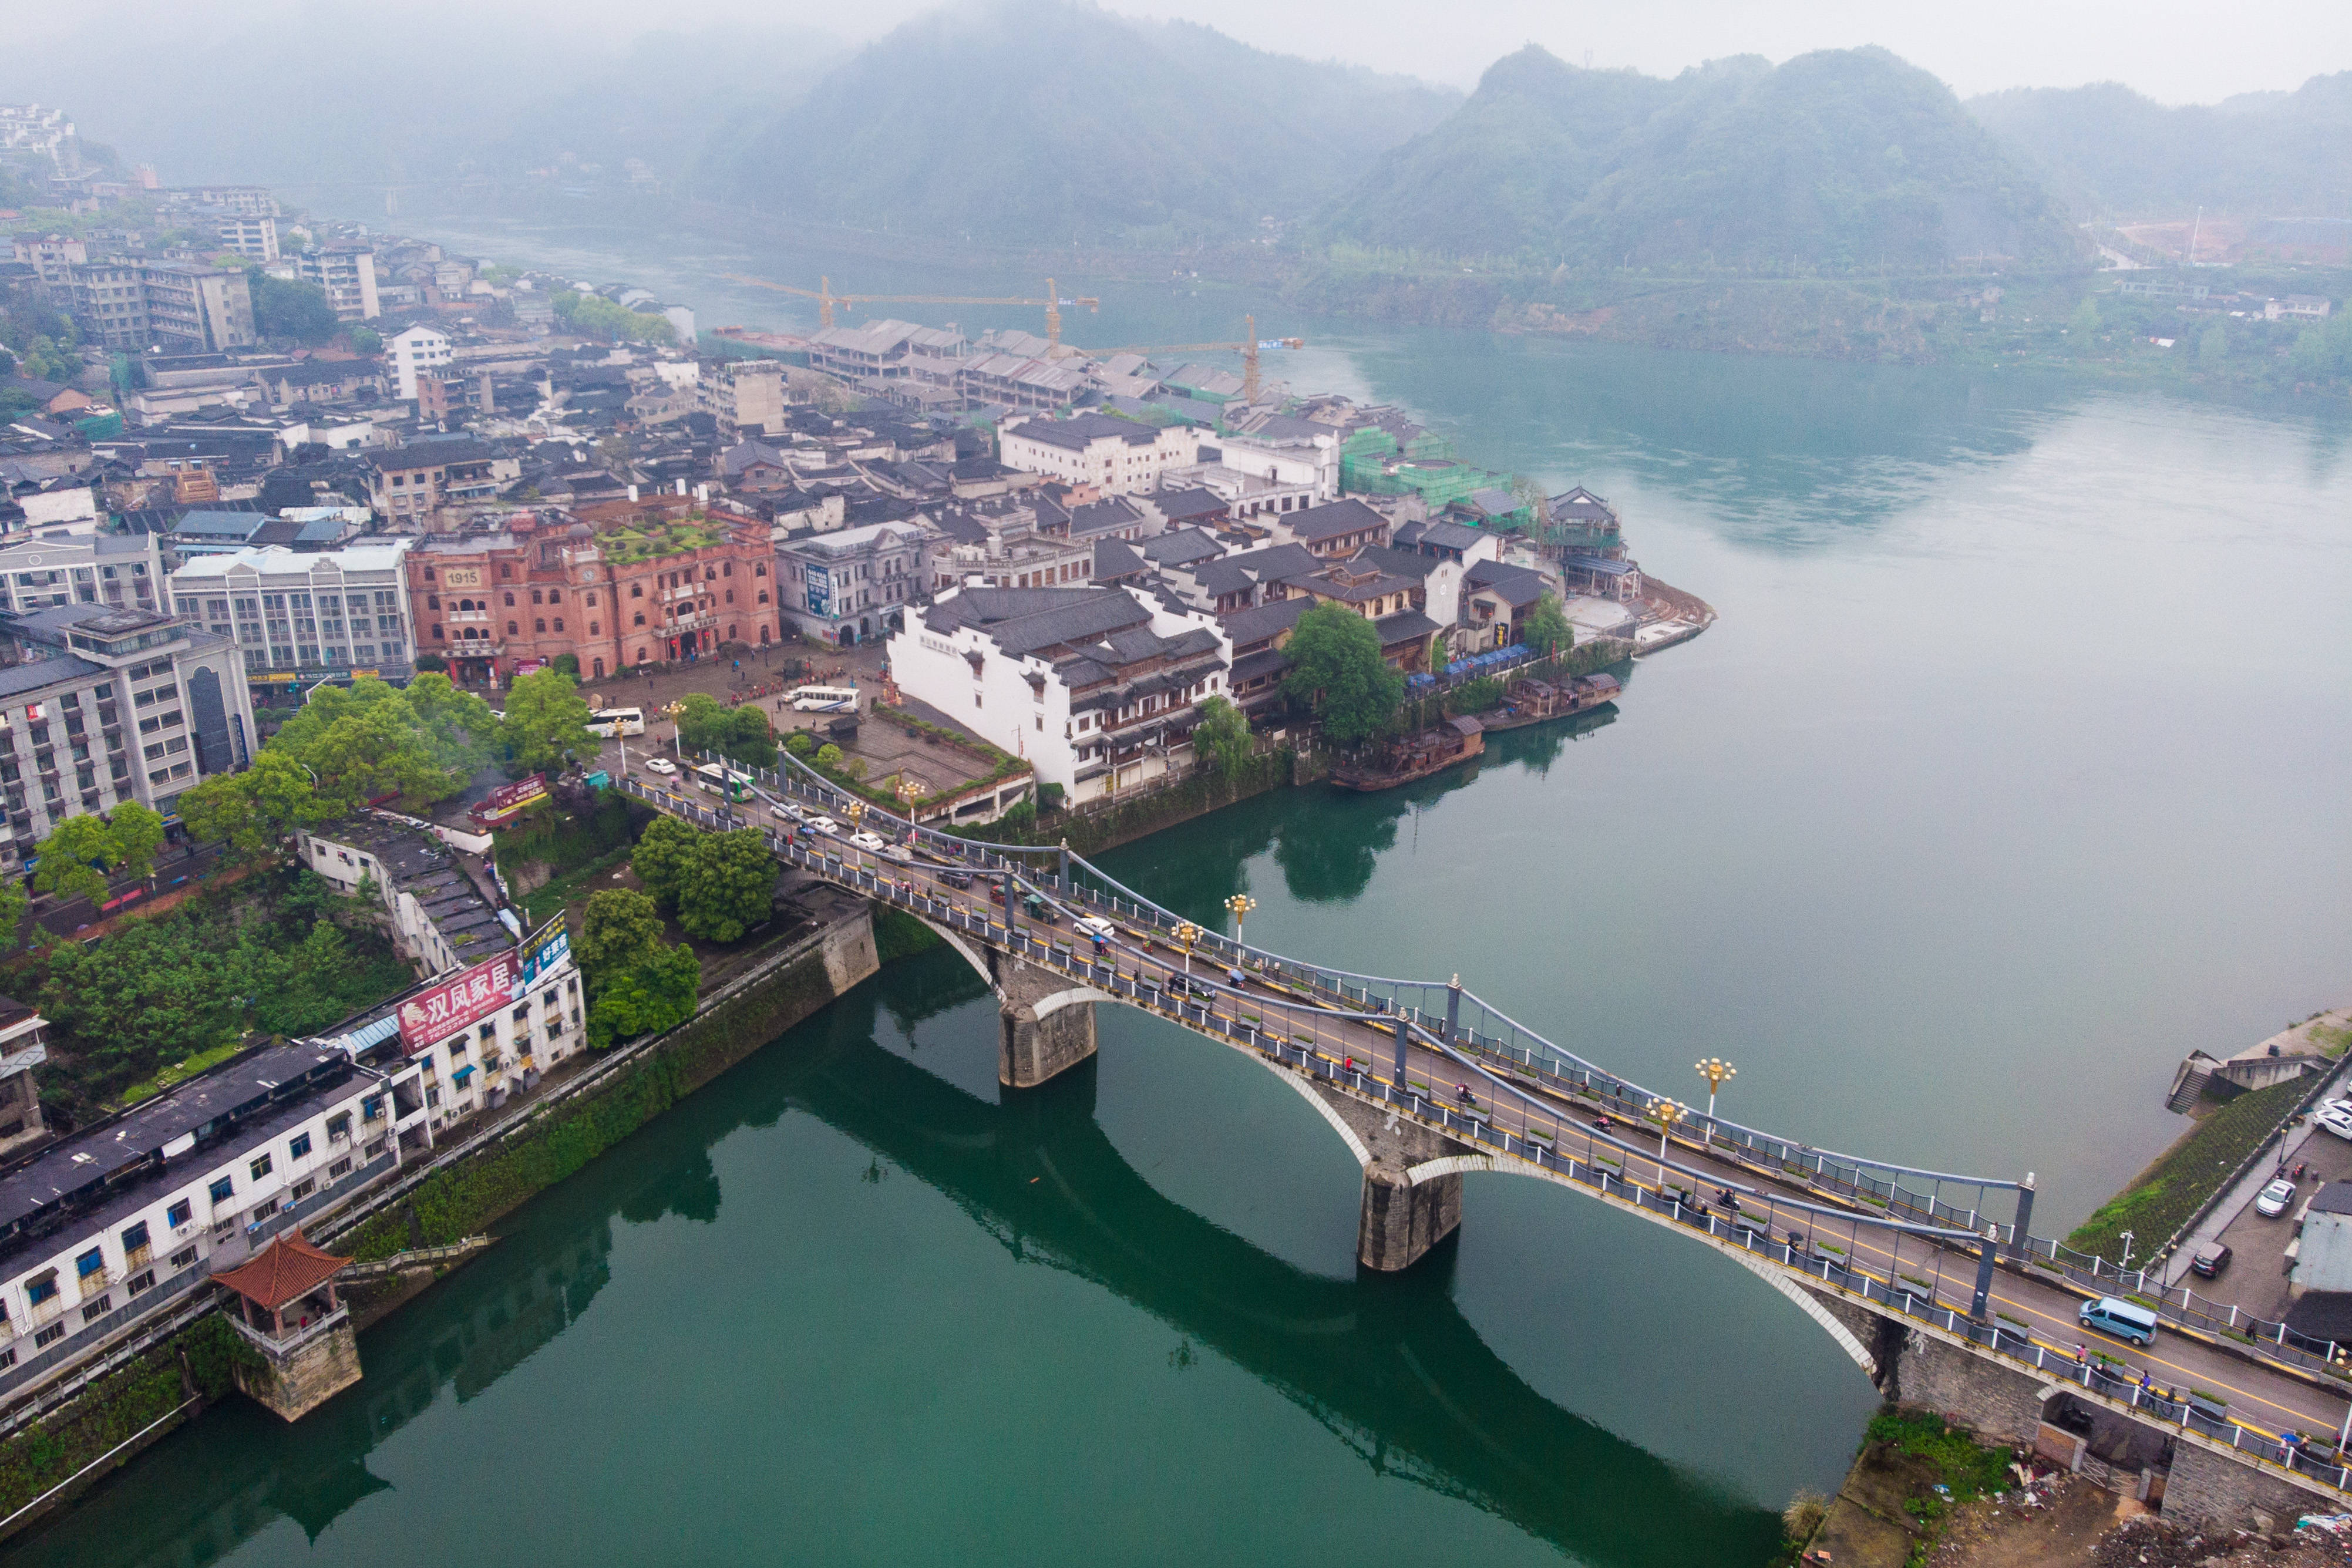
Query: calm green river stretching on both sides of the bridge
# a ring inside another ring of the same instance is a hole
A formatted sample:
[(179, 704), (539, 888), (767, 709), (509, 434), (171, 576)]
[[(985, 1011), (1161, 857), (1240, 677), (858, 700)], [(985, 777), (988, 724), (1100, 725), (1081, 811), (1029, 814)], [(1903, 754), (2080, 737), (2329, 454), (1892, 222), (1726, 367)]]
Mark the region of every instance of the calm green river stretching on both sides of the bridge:
[[(828, 266), (447, 237), (706, 324), (793, 322), (717, 270)], [(1101, 292), (1073, 339), (1249, 303)], [(1611, 722), (1261, 797), (1122, 879), (1458, 971), (1668, 1091), (1726, 1056), (1726, 1114), (1816, 1145), (2034, 1171), (2044, 1232), (2173, 1135), (2183, 1051), (2352, 990), (2340, 409), (1301, 327), (1294, 383), (1590, 484), (1722, 623)], [(1169, 1025), (1101, 1039), (1002, 1098), (978, 983), (903, 964), (517, 1213), (327, 1410), (233, 1403), (5, 1561), (1743, 1566), (1842, 1474), (1872, 1389), (1757, 1279), (1501, 1175), (1428, 1265), (1359, 1279), (1312, 1110)]]

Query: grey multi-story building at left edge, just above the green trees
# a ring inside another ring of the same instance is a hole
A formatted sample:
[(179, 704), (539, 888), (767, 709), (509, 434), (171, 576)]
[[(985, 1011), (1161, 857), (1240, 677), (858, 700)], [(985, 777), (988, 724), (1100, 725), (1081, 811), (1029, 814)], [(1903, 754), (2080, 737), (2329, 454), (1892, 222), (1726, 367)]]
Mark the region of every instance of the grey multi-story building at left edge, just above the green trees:
[(176, 820), (181, 790), (252, 759), (235, 644), (106, 604), (5, 611), (0, 630), (28, 654), (0, 670), (0, 872), (68, 816), (136, 799)]

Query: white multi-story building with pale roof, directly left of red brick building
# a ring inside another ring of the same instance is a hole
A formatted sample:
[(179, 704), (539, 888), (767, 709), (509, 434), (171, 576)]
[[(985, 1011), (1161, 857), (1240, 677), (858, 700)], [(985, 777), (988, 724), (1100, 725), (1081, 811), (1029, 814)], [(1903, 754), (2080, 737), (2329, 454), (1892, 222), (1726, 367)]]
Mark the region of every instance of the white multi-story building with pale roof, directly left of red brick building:
[(200, 555), (172, 574), (172, 609), (188, 625), (233, 642), (245, 679), (315, 684), (416, 670), (402, 557), (414, 538), (348, 550), (259, 545)]

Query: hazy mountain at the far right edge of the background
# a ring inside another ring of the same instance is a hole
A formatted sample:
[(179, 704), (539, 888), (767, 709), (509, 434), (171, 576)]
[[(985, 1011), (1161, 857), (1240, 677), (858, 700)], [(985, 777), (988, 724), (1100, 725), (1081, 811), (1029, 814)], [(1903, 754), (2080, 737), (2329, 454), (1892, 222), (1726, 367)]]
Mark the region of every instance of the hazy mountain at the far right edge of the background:
[(2117, 82), (2016, 87), (1969, 113), (2084, 216), (2352, 216), (2352, 71), (2185, 108)]

